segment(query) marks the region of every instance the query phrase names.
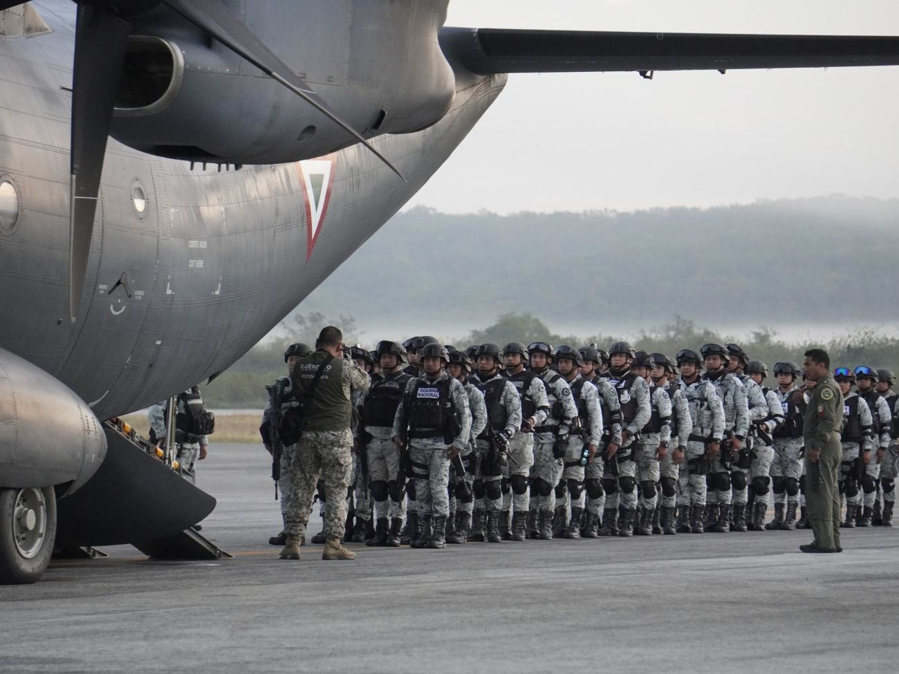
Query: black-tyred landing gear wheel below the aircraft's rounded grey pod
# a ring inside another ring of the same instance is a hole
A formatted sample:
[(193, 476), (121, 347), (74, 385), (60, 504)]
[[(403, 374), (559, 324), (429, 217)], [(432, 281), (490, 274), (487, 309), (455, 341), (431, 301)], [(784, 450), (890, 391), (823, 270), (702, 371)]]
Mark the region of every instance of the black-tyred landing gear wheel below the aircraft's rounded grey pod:
[(39, 581), (56, 539), (53, 487), (0, 489), (0, 585)]

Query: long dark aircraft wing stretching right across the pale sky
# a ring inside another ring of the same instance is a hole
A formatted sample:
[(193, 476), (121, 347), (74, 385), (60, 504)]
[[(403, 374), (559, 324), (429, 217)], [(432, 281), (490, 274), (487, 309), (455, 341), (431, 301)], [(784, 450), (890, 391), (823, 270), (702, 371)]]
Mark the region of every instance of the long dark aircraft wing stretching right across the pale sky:
[(444, 28), (479, 75), (899, 65), (899, 37)]

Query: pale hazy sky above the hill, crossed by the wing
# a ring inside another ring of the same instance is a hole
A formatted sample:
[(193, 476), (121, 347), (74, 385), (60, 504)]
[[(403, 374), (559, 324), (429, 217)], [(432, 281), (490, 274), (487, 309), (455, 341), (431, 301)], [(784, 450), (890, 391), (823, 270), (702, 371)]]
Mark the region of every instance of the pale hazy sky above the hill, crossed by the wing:
[[(896, 0), (451, 0), (448, 25), (899, 35)], [(899, 67), (512, 75), (409, 206), (899, 197)]]

